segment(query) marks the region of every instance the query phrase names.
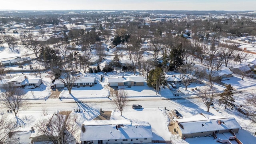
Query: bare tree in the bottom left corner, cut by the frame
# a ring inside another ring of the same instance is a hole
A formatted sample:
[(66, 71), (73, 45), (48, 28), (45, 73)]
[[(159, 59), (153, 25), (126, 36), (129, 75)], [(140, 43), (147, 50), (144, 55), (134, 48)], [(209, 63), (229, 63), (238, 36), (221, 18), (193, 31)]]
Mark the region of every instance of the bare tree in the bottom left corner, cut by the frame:
[(0, 144), (12, 144), (17, 142), (17, 139), (10, 137), (10, 134), (14, 132), (16, 124), (14, 121), (9, 120), (8, 116), (0, 116)]

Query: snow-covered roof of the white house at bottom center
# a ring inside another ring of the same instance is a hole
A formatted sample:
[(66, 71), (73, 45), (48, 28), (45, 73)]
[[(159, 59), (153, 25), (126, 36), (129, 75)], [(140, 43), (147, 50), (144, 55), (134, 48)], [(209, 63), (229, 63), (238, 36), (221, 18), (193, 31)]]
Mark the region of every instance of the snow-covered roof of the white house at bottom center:
[[(118, 124), (121, 125), (120, 128), (117, 128)], [(81, 141), (152, 137), (151, 125), (148, 122), (130, 122), (130, 120), (85, 121), (80, 134)]]

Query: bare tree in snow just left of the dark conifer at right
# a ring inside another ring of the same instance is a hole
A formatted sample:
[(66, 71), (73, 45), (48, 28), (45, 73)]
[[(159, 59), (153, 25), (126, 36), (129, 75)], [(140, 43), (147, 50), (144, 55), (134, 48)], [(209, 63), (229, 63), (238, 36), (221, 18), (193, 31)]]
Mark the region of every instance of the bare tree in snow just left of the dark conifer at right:
[(207, 112), (209, 112), (210, 105), (216, 98), (218, 98), (218, 94), (216, 93), (216, 90), (204, 86), (200, 88), (200, 94), (198, 94), (198, 97), (204, 102), (207, 107)]

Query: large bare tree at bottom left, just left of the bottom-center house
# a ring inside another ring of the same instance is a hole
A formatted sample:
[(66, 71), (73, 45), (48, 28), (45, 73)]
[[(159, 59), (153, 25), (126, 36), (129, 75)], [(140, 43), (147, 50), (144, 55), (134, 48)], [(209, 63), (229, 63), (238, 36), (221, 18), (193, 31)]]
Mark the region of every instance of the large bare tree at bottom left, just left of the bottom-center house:
[(78, 126), (74, 126), (76, 123), (70, 112), (53, 114), (50, 118), (39, 119), (35, 123), (35, 131), (47, 136), (53, 144), (72, 144), (76, 142)]

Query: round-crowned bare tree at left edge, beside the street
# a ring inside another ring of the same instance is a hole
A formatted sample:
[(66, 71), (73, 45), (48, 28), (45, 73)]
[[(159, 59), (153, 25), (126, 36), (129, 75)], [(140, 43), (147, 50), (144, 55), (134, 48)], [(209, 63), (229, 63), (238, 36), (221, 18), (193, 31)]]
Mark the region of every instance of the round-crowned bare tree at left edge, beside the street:
[(27, 108), (27, 99), (23, 89), (15, 88), (12, 84), (6, 84), (3, 88), (5, 91), (1, 94), (1, 105), (12, 110), (17, 116), (20, 110)]

